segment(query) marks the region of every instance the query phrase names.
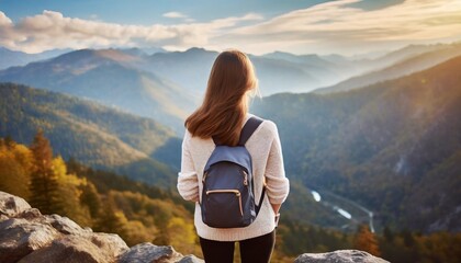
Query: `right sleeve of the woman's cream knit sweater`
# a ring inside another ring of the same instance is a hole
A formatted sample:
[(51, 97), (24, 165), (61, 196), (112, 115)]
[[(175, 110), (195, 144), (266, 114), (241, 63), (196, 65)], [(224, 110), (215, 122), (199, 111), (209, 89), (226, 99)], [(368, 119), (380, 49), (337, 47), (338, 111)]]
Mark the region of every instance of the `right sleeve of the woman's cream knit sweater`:
[(282, 204), (290, 192), (290, 182), (283, 167), (282, 146), (276, 124), (271, 123), (273, 140), (266, 165), (266, 187), (271, 204)]

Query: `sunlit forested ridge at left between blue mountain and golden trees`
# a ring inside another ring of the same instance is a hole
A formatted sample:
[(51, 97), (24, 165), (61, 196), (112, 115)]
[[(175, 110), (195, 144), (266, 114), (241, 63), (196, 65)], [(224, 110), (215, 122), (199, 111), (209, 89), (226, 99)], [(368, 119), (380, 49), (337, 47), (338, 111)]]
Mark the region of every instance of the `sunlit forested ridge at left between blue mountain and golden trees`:
[[(0, 136), (30, 144), (37, 129), (55, 152), (93, 168), (171, 187), (179, 167), (175, 133), (150, 119), (88, 100), (0, 83)], [(159, 157), (159, 158), (157, 158)]]

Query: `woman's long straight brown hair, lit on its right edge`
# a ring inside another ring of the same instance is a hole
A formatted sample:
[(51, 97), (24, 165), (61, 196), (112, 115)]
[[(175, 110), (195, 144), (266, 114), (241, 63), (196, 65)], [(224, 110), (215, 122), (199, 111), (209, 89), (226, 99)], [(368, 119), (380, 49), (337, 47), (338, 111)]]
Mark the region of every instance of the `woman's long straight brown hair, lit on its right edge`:
[(248, 112), (248, 91), (257, 89), (249, 58), (241, 52), (221, 53), (213, 64), (202, 105), (185, 119), (185, 127), (200, 138), (214, 137), (236, 146)]

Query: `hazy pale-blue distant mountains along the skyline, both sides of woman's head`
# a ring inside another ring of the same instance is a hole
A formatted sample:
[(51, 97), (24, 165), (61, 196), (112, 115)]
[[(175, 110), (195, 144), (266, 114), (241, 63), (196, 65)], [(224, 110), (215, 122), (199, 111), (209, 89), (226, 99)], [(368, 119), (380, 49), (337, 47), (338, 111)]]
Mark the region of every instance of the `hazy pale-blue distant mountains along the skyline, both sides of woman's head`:
[[(288, 53), (250, 58), (255, 64), (262, 95), (307, 92), (344, 81), (318, 90), (331, 92), (428, 68), (459, 54), (460, 46), (409, 46), (379, 58), (359, 60), (339, 55), (296, 56)], [(10, 64), (22, 57), (34, 57), (5, 48), (1, 50), (3, 55), (0, 55), (5, 58), (3, 61)], [(50, 54), (38, 54), (35, 58)], [(172, 53), (157, 50), (151, 55), (138, 48), (82, 49), (0, 70), (0, 81), (92, 99), (136, 115), (151, 117), (182, 136), (183, 119), (200, 103), (216, 56), (216, 52), (203, 48)], [(379, 69), (384, 71), (352, 78)]]

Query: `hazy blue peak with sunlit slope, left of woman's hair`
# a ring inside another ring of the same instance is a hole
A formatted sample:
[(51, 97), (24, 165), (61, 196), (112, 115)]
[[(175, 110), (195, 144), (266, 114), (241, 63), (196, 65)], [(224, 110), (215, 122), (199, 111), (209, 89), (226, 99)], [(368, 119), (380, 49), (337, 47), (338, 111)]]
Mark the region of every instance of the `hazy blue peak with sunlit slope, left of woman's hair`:
[(143, 57), (114, 49), (77, 50), (10, 68), (0, 71), (0, 81), (92, 99), (155, 117), (177, 132), (198, 100), (188, 89), (147, 71)]

